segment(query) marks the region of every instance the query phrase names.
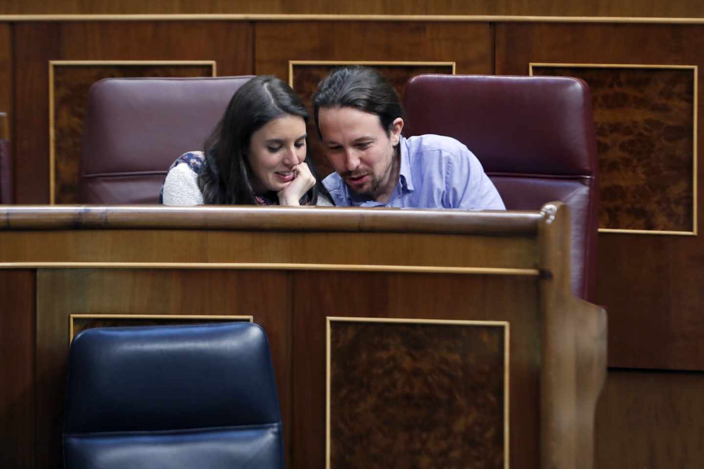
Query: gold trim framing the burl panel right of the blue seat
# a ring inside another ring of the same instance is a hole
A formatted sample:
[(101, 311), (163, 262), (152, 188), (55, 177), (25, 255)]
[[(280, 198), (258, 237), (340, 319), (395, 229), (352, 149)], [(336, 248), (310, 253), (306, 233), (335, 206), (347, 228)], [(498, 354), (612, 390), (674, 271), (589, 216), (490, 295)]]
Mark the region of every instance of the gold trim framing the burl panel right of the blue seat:
[(440, 324), (446, 326), (501, 326), (503, 332), (503, 468), (508, 469), (510, 457), (509, 440), (509, 380), (510, 380), (510, 323), (508, 321), (470, 321), (451, 319), (396, 319), (396, 318), (354, 318), (326, 316), (325, 318), (325, 469), (330, 469), (330, 325), (336, 322), (358, 323), (403, 323)]

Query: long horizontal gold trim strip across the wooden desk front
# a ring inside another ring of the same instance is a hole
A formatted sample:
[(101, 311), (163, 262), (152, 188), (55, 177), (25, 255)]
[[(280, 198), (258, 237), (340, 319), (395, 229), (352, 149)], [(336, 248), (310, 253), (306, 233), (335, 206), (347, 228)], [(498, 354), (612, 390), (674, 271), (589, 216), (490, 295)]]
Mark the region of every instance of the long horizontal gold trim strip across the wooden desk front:
[(540, 276), (539, 269), (513, 269), (510, 267), (295, 264), (275, 262), (0, 262), (0, 269), (240, 269)]

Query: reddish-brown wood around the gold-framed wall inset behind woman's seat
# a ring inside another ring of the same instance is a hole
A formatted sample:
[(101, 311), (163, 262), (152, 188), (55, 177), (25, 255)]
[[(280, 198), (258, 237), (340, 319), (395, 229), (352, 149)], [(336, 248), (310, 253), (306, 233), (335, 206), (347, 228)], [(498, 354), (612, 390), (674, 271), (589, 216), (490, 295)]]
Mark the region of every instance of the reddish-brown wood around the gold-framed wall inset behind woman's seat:
[(15, 202), (49, 203), (49, 60), (215, 60), (219, 76), (250, 75), (252, 41), (237, 22), (15, 25)]

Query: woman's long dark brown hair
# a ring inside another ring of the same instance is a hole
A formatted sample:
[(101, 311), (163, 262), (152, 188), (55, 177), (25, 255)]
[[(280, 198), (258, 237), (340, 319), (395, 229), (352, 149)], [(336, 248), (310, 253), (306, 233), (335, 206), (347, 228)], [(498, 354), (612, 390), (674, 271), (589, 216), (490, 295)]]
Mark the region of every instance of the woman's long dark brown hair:
[[(206, 205), (252, 205), (255, 194), (251, 167), (246, 158), (252, 134), (268, 122), (286, 115), (302, 117), (308, 123), (308, 109), (291, 86), (277, 77), (254, 77), (235, 91), (213, 133), (203, 145), (206, 164), (198, 186)], [(306, 164), (316, 184), (308, 191), (308, 203), (315, 205), (318, 193), (325, 193), (306, 145)]]

